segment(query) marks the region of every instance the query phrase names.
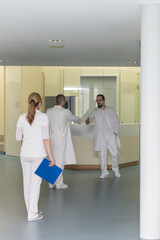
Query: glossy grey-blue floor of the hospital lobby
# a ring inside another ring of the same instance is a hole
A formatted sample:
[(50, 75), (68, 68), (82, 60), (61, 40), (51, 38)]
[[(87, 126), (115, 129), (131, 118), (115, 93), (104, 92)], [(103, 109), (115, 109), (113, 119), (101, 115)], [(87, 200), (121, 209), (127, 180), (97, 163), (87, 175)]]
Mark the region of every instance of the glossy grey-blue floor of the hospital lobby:
[(19, 159), (0, 155), (0, 239), (138, 240), (139, 166), (121, 173), (100, 180), (96, 170), (65, 170), (68, 190), (48, 189), (43, 181), (44, 219), (27, 222)]

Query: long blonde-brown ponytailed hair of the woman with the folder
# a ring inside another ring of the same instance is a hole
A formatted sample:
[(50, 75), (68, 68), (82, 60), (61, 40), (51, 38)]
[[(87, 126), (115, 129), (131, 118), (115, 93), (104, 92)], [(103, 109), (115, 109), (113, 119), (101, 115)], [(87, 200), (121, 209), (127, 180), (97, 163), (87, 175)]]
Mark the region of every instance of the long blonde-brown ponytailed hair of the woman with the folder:
[(34, 117), (36, 114), (36, 107), (38, 104), (42, 102), (41, 96), (39, 93), (31, 93), (28, 97), (28, 113), (27, 113), (27, 121), (30, 125), (32, 125), (34, 121)]

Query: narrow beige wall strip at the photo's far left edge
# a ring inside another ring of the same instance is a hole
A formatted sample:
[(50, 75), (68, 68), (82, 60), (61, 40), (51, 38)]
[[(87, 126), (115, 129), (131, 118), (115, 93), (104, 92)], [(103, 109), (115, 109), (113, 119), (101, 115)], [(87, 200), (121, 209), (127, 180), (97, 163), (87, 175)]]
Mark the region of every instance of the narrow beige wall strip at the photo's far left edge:
[(4, 136), (4, 67), (0, 66), (0, 135)]

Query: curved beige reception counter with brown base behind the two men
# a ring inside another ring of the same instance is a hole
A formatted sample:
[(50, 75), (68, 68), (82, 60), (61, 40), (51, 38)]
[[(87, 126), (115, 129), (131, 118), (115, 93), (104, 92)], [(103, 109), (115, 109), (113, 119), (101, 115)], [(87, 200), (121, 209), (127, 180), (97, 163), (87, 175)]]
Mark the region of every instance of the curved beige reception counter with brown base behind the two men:
[[(122, 124), (119, 137), (120, 167), (138, 164), (139, 162), (139, 124)], [(69, 169), (99, 169), (98, 152), (93, 151), (94, 125), (71, 124), (71, 134), (77, 158), (77, 165), (66, 166)], [(111, 168), (112, 158), (108, 153), (108, 168)]]

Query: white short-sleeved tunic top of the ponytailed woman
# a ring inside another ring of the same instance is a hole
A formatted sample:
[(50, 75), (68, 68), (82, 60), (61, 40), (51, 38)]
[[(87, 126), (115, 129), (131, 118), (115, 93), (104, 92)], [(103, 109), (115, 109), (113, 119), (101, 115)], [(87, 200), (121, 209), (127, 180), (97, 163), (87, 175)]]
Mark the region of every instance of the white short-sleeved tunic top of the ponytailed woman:
[(22, 141), (21, 157), (46, 157), (43, 139), (49, 138), (49, 122), (46, 114), (36, 110), (35, 118), (30, 125), (26, 120), (27, 113), (22, 114), (17, 122), (16, 140)]

